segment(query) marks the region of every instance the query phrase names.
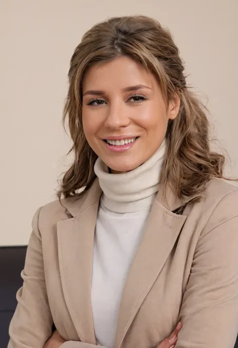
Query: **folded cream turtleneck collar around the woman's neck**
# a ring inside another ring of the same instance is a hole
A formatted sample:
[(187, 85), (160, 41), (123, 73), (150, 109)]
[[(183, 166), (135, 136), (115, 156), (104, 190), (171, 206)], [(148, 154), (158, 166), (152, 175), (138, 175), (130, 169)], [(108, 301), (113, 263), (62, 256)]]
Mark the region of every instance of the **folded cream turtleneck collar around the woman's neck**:
[(158, 192), (165, 150), (164, 140), (145, 163), (123, 174), (110, 174), (108, 167), (98, 157), (94, 172), (103, 191), (101, 201), (104, 206), (121, 213), (150, 209)]

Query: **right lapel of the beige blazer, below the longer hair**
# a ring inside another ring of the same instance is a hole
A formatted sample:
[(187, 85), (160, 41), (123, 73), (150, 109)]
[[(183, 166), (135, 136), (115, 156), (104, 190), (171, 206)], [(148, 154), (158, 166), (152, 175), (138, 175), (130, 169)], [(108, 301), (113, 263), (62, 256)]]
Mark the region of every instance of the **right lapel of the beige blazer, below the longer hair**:
[(185, 215), (177, 215), (167, 208), (170, 205), (175, 209), (182, 205), (181, 201), (174, 199), (172, 193), (166, 197), (168, 202), (163, 200), (161, 194), (157, 195), (130, 269), (118, 313), (115, 348), (121, 346), (133, 319), (160, 274), (186, 220)]

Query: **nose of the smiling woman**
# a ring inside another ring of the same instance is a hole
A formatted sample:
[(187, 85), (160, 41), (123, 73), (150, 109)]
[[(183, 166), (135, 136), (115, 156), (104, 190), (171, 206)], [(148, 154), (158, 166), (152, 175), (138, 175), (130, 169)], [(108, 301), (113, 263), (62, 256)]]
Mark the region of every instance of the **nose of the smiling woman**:
[(108, 108), (104, 126), (111, 130), (127, 127), (130, 124), (130, 117), (124, 102), (116, 102)]

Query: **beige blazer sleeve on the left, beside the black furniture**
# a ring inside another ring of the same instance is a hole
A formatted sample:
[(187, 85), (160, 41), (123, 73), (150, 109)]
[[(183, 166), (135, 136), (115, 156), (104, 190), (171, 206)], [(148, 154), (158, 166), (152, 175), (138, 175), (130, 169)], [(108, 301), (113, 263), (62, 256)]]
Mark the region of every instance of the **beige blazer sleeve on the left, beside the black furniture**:
[[(23, 286), (17, 292), (17, 308), (9, 327), (8, 348), (44, 348), (52, 335), (51, 315), (44, 274), (41, 234), (38, 220), (41, 207), (32, 219), (24, 270)], [(93, 348), (95, 345), (68, 341), (62, 348)]]

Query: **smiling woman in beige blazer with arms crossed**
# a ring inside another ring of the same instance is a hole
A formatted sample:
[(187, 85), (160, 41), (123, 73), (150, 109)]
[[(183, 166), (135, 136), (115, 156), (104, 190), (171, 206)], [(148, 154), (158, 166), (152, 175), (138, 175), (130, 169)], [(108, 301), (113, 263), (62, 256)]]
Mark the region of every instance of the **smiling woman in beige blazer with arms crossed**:
[(154, 19), (83, 36), (64, 110), (75, 158), (33, 217), (9, 348), (233, 347), (238, 190), (183, 70)]

